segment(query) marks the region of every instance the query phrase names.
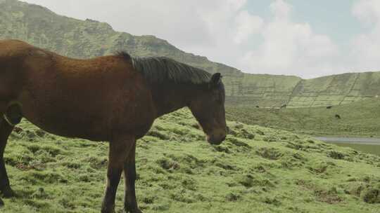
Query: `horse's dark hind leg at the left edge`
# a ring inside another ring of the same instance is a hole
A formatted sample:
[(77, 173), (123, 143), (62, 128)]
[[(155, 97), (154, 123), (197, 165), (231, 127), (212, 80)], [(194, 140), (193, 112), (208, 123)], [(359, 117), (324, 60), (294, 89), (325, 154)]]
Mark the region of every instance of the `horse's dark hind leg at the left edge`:
[(15, 195), (9, 185), (8, 174), (6, 173), (6, 167), (4, 163), (4, 150), (8, 137), (11, 135), (13, 126), (9, 125), (4, 118), (0, 118), (0, 191), (4, 197), (9, 198)]

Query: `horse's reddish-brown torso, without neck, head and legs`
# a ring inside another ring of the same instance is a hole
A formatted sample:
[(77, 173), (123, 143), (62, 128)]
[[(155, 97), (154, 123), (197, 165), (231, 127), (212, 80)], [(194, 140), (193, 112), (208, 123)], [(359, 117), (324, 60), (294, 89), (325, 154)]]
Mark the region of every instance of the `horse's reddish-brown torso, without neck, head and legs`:
[(0, 60), (0, 111), (20, 104), (28, 121), (53, 134), (109, 141), (114, 131), (138, 129), (141, 137), (156, 118), (143, 76), (123, 57), (75, 60), (8, 41)]

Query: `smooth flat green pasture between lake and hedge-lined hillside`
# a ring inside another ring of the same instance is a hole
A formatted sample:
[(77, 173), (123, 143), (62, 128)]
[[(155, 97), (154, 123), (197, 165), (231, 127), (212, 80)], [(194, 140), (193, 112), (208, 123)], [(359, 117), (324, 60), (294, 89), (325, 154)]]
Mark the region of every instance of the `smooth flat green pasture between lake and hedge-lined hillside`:
[[(339, 115), (341, 118), (336, 118)], [(309, 135), (380, 137), (380, 99), (299, 109), (227, 107), (231, 121), (280, 128)]]

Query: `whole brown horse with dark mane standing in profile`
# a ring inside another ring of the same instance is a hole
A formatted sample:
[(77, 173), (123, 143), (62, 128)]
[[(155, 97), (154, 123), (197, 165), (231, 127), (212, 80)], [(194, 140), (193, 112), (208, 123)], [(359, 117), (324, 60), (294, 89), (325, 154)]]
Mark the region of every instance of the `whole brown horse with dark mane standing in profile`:
[(101, 212), (114, 212), (122, 172), (125, 211), (141, 212), (134, 190), (136, 140), (156, 118), (182, 107), (189, 107), (210, 144), (224, 140), (220, 74), (166, 57), (119, 53), (76, 60), (23, 41), (0, 41), (0, 191), (14, 195), (3, 155), (13, 125), (23, 116), (56, 135), (109, 142)]

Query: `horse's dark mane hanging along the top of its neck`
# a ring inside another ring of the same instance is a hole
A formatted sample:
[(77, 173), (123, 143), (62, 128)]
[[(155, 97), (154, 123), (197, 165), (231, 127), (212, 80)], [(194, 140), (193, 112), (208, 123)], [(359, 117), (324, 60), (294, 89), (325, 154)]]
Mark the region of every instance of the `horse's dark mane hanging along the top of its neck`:
[(131, 61), (134, 69), (150, 83), (208, 83), (211, 74), (203, 69), (177, 62), (168, 57), (130, 57), (128, 53), (120, 52), (119, 56)]

